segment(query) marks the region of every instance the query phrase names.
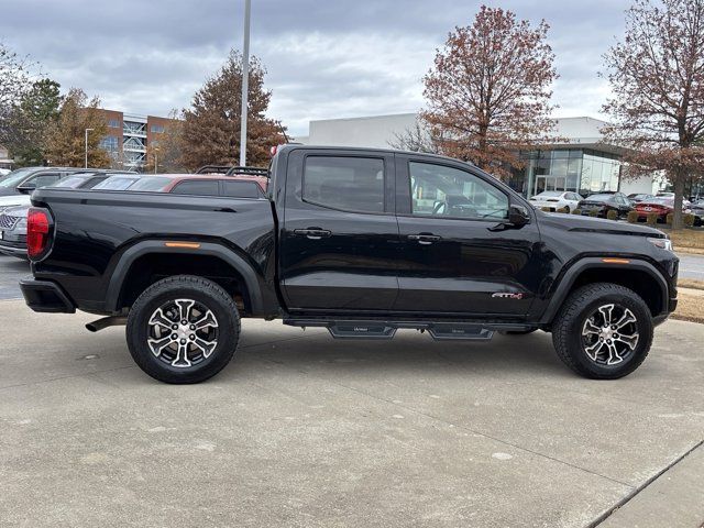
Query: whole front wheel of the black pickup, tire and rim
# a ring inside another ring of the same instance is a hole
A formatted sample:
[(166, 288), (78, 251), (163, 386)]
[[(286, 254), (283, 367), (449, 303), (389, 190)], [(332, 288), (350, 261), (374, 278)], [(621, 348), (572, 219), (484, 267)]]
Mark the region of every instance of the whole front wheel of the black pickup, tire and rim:
[(642, 298), (616, 284), (597, 283), (574, 292), (552, 327), (562, 362), (593, 380), (627, 376), (652, 344), (652, 317)]

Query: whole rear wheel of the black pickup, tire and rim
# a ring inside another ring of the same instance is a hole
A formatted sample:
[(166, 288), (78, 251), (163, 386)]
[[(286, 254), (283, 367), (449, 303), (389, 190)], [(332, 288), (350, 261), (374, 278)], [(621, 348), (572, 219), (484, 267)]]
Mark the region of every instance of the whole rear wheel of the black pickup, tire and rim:
[(199, 383), (232, 359), (240, 337), (234, 299), (218, 284), (180, 275), (150, 286), (128, 317), (128, 346), (146, 374), (165, 383)]

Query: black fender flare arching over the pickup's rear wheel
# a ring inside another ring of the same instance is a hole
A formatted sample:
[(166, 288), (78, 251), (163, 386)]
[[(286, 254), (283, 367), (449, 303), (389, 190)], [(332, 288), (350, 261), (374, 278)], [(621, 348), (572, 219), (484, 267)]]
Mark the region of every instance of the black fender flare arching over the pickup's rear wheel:
[(144, 242), (138, 242), (122, 253), (120, 260), (114, 266), (114, 270), (112, 271), (110, 284), (108, 285), (108, 295), (106, 298), (106, 308), (108, 311), (114, 312), (118, 310), (120, 294), (132, 264), (141, 256), (154, 253), (208, 255), (221, 258), (242, 275), (242, 278), (244, 278), (248, 294), (250, 296), (250, 302), (252, 304), (252, 312), (261, 314), (264, 311), (264, 299), (256, 272), (251, 264), (232, 250), (211, 242), (201, 242), (200, 248), (198, 249), (167, 248), (165, 242), (165, 240), (147, 240)]

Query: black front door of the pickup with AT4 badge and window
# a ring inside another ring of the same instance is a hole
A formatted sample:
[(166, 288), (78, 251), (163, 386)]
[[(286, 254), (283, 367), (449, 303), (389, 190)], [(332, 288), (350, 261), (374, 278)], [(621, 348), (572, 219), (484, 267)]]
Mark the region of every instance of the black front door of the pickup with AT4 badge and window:
[(510, 195), (466, 165), (397, 155), (396, 170), (403, 251), (394, 310), (526, 315), (546, 273), (536, 222), (504, 229)]

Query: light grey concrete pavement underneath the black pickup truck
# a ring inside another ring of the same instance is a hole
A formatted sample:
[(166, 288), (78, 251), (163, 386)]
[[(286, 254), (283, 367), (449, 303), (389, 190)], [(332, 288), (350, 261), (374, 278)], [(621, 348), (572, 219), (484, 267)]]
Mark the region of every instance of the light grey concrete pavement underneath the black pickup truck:
[[(244, 321), (219, 376), (168, 386), (90, 319), (0, 301), (2, 526), (584, 527), (704, 449), (693, 323), (660, 327), (631, 376), (593, 382), (540, 332), (333, 341)], [(683, 479), (704, 496), (701, 471)], [(662, 493), (675, 515), (685, 497)]]

